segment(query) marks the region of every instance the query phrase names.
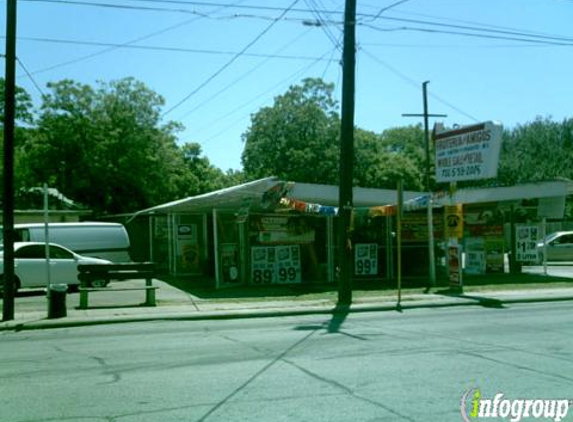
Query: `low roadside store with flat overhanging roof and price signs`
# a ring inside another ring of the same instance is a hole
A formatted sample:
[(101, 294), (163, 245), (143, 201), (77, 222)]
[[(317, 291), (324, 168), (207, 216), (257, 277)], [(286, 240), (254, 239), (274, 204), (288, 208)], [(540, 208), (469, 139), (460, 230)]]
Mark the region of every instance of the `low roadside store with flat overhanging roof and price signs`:
[[(571, 183), (459, 190), (453, 196), (404, 192), (402, 273), (427, 277), (427, 204), (432, 201), (438, 267), (445, 262), (448, 206), (461, 213), (466, 268), (504, 271), (512, 227), (563, 218)], [(396, 277), (393, 190), (354, 188), (355, 277), (391, 283)], [(151, 260), (173, 276), (237, 284), (332, 283), (337, 268), (338, 188), (266, 178), (137, 212), (126, 224), (138, 239), (134, 259)], [(513, 224), (512, 224), (513, 223)], [(441, 273), (440, 273), (441, 275)]]

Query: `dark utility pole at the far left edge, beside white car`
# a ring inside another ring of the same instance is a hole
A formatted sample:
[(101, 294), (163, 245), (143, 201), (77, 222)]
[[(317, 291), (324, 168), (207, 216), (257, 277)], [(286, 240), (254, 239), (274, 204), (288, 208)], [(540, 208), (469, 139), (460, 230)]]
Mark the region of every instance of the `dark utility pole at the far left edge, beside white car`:
[(2, 321), (14, 319), (14, 120), (16, 101), (16, 0), (6, 2), (4, 90), (4, 306)]

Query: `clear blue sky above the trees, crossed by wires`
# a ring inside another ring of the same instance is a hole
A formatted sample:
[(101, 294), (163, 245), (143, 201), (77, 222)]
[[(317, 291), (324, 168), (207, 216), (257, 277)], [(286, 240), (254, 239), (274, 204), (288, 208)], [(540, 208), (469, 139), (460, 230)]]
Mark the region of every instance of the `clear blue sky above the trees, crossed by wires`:
[[(181, 143), (240, 169), (250, 116), (290, 85), (321, 77), (340, 95), (343, 11), (344, 0), (19, 0), (17, 56), (32, 78), (19, 66), (17, 83), (39, 106), (51, 81), (133, 76), (165, 98)], [(417, 123), (402, 114), (422, 111), (426, 80), (446, 126), (573, 117), (573, 0), (358, 0), (357, 20), (363, 129)]]

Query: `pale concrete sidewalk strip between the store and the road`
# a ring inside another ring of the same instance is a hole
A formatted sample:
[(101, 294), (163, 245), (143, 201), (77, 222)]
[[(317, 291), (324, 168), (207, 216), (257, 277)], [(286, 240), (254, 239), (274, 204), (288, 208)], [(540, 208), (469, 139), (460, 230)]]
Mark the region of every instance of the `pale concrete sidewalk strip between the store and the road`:
[[(140, 281), (122, 282), (122, 287)], [(154, 320), (205, 320), (257, 318), (271, 316), (294, 316), (306, 314), (332, 314), (336, 308), (336, 295), (321, 299), (297, 297), (263, 298), (200, 298), (179, 290), (163, 281), (154, 280), (157, 290), (157, 306), (142, 306), (145, 292), (98, 292), (90, 294), (90, 308), (77, 309), (79, 294), (66, 297), (67, 315), (47, 319), (48, 303), (41, 290), (23, 291), (16, 298), (15, 319), (0, 322), (0, 331), (32, 330), (42, 328), (73, 327), (82, 325), (110, 324)], [(415, 308), (484, 306), (502, 308), (514, 303), (573, 300), (573, 284), (559, 287), (531, 288), (527, 284), (508, 290), (488, 290), (483, 286), (478, 292), (450, 295), (443, 289), (424, 294), (423, 289), (409, 289), (402, 295), (397, 306), (395, 292), (369, 292), (367, 296), (355, 295), (354, 303), (344, 312), (398, 311)], [(1, 303), (1, 302), (0, 302)], [(1, 309), (1, 306), (0, 306)]]

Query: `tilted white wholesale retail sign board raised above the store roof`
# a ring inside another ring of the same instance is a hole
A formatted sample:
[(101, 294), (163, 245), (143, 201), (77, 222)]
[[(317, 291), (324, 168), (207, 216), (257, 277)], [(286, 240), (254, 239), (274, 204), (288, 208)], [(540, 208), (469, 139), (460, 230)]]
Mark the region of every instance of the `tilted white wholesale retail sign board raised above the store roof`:
[(480, 123), (435, 135), (436, 180), (439, 183), (497, 176), (503, 127)]

